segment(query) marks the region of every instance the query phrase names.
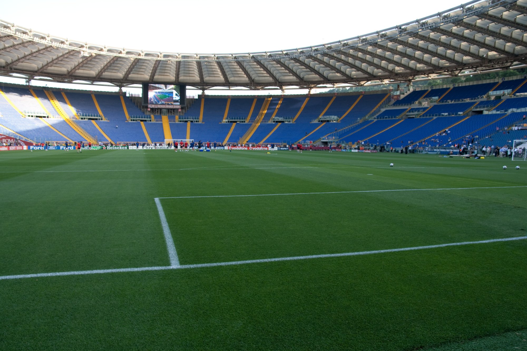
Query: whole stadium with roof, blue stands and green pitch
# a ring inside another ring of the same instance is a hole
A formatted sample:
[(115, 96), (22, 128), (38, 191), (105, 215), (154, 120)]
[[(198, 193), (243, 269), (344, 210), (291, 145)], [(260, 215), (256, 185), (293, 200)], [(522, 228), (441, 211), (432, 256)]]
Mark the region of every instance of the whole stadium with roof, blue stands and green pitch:
[(252, 53), (39, 30), (0, 20), (1, 349), (527, 348), (527, 0)]

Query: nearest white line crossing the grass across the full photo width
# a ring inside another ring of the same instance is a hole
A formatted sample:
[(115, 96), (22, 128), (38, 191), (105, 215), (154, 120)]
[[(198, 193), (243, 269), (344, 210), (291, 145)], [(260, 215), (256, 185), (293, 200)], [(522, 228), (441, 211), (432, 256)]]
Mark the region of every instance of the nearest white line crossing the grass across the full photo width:
[(187, 269), (187, 268), (206, 268), (206, 267), (217, 267), (217, 266), (234, 266), (234, 265), (245, 265), (245, 264), (251, 264), (251, 263), (269, 263), (269, 262), (280, 262), (280, 261), (303, 260), (303, 259), (311, 259), (311, 258), (329, 258), (329, 257), (345, 257), (345, 256), (361, 256), (361, 255), (385, 254), (385, 253), (394, 253), (394, 252), (402, 252), (402, 251), (413, 251), (413, 250), (423, 250), (423, 249), (431, 249), (431, 248), (441, 248), (441, 247), (447, 247), (447, 246), (461, 246), (461, 245), (509, 242), (509, 241), (512, 241), (512, 240), (524, 240), (524, 239), (527, 239), (527, 236), (517, 236), (517, 237), (502, 238), (502, 239), (479, 240), (479, 241), (475, 241), (475, 242), (462, 242), (462, 243), (449, 243), (449, 244), (438, 244), (438, 245), (428, 245), (428, 246), (403, 247), (403, 248), (393, 248), (393, 249), (386, 249), (386, 250), (360, 251), (360, 252), (350, 252), (350, 253), (341, 253), (341, 254), (323, 254), (323, 255), (278, 257), (278, 258), (264, 258), (264, 259), (248, 259), (248, 260), (242, 260), (242, 261), (218, 262), (218, 263), (202, 263), (202, 264), (195, 264), (195, 265), (139, 267), (139, 268), (115, 268), (115, 269), (95, 269), (95, 270), (76, 270), (76, 271), (73, 271), (73, 272), (55, 272), (55, 273), (4, 275), (4, 276), (0, 276), (0, 280), (21, 279), (21, 278), (57, 277), (57, 276), (66, 276), (66, 275), (86, 275), (86, 274), (123, 273), (123, 272), (144, 272), (144, 271), (147, 271), (147, 270), (169, 270), (169, 269)]

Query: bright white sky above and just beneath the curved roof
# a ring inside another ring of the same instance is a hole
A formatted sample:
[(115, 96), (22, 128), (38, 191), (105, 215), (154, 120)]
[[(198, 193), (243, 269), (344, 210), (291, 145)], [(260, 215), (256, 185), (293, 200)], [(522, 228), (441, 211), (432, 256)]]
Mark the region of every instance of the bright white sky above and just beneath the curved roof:
[[(0, 18), (37, 32), (109, 47), (219, 54), (334, 42), (414, 21), (460, 4), (453, 0), (334, 0), (330, 3), (288, 0), (51, 0), (42, 3), (26, 0), (23, 5), (4, 1)], [(0, 82), (7, 82), (6, 79), (9, 78), (0, 77)], [(19, 79), (16, 81), (23, 84)], [(8, 83), (14, 82), (9, 79)], [(32, 84), (42, 85), (37, 81)], [(193, 93), (189, 91), (189, 94)]]

